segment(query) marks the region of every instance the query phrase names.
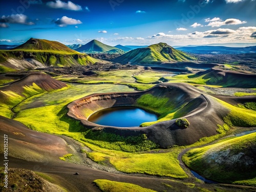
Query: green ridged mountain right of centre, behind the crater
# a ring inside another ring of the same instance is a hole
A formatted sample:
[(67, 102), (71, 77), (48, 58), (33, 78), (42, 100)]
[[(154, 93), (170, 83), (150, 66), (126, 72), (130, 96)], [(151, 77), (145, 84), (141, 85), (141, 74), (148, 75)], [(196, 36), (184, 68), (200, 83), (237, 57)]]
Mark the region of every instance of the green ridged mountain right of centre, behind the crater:
[(188, 60), (196, 60), (196, 58), (176, 50), (163, 42), (129, 51), (114, 59), (114, 61), (121, 63), (155, 63)]

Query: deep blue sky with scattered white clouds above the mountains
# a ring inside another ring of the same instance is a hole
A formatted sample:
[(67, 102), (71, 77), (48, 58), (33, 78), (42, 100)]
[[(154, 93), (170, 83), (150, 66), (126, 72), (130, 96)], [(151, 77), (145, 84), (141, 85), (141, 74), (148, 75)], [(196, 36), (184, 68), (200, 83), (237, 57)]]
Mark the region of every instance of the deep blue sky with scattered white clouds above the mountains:
[(0, 44), (31, 37), (65, 45), (251, 43), (255, 10), (256, 0), (1, 0)]

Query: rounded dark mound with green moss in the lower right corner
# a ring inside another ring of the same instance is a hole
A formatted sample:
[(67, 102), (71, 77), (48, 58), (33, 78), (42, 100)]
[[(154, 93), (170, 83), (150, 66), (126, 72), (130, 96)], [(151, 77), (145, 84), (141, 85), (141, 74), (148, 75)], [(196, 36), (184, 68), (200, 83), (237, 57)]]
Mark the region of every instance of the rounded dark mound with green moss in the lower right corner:
[[(195, 148), (183, 156), (183, 161), (187, 166), (202, 175), (207, 170), (207, 172), (211, 173), (208, 179), (225, 183), (256, 186), (256, 166), (245, 165), (246, 161), (253, 158), (255, 154), (255, 140), (256, 133), (252, 133), (220, 141), (209, 146)], [(225, 160), (227, 158), (225, 154), (228, 155), (229, 159), (233, 159), (232, 163)], [(244, 155), (242, 158), (239, 158), (239, 154)], [(215, 159), (212, 159), (212, 156)], [(240, 164), (241, 162), (242, 164)]]

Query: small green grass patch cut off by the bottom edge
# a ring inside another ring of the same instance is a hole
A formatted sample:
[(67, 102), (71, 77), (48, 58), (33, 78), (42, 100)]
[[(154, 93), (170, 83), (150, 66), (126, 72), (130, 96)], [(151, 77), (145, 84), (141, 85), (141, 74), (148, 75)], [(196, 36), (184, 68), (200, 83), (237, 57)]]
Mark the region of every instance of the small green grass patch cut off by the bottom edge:
[(93, 182), (96, 183), (103, 192), (156, 192), (155, 190), (143, 188), (132, 183), (116, 182), (106, 179), (97, 179)]

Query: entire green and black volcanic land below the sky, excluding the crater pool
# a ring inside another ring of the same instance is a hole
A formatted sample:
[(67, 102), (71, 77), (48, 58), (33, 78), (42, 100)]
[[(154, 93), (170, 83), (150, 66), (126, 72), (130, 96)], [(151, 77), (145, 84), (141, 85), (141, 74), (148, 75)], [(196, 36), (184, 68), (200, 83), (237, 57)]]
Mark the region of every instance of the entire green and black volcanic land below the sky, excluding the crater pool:
[[(236, 136), (256, 130), (255, 53), (165, 43), (122, 50), (97, 40), (71, 48), (30, 38), (0, 51), (10, 168), (2, 191), (255, 191), (255, 133)], [(157, 120), (121, 128), (90, 121), (115, 106)]]

